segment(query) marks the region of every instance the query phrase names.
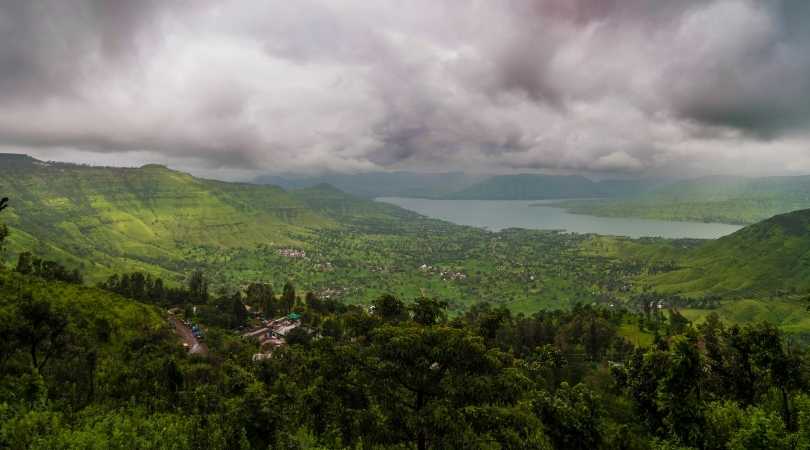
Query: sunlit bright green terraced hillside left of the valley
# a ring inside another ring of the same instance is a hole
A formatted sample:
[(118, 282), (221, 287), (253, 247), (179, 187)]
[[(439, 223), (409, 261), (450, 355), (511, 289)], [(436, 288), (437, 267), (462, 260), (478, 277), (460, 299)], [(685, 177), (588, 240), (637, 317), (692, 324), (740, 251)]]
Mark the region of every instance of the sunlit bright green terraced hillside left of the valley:
[(197, 246), (284, 243), (334, 225), (273, 186), (202, 180), (156, 165), (8, 159), (0, 159), (0, 192), (12, 199), (3, 217), (13, 227), (12, 250), (79, 260), (85, 270), (182, 270), (184, 252)]

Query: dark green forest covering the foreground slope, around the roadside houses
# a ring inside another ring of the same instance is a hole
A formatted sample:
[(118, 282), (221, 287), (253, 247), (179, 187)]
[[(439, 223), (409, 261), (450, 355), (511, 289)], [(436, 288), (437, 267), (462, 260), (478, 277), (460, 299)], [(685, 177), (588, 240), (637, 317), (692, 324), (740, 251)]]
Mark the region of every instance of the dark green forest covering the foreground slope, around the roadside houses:
[[(90, 287), (32, 260), (0, 269), (2, 447), (810, 448), (810, 359), (767, 323), (589, 304), (451, 316), (291, 283), (212, 293), (201, 271)], [(203, 324), (208, 354), (179, 345), (170, 306)], [(253, 358), (238, 330), (289, 312), (299, 331)]]

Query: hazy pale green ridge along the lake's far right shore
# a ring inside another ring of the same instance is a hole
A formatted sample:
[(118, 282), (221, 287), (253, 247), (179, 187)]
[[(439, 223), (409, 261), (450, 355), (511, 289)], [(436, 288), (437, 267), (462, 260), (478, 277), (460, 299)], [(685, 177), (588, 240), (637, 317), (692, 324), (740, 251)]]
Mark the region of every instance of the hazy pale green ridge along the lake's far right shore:
[(610, 201), (572, 201), (582, 214), (663, 220), (752, 224), (810, 208), (810, 176), (749, 178), (710, 176), (661, 185)]

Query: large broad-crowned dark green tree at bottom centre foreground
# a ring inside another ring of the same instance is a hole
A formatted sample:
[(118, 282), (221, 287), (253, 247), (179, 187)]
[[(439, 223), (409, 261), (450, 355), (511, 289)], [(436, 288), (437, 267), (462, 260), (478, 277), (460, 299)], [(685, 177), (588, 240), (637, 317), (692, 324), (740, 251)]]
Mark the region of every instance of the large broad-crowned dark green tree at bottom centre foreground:
[[(505, 355), (465, 330), (384, 325), (361, 354), (368, 392), (385, 416), (382, 444), (470, 448), (470, 432), (499, 433), (499, 426), (521, 420), (508, 407), (524, 392), (525, 379), (504, 371)], [(525, 438), (505, 447), (531, 448)]]

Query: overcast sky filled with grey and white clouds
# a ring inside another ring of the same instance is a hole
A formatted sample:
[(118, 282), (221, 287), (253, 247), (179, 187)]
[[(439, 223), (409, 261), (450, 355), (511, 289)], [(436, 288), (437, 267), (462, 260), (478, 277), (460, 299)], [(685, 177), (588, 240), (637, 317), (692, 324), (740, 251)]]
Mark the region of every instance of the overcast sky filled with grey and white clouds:
[(0, 151), (223, 176), (810, 173), (810, 2), (4, 0)]

